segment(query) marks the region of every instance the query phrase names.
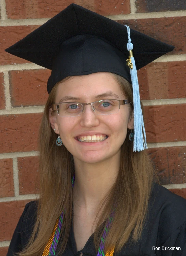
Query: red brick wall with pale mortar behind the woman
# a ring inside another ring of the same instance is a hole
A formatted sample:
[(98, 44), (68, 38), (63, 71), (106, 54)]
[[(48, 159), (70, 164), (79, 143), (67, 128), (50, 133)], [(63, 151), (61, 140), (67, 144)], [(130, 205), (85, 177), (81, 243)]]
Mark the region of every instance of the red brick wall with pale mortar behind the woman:
[(162, 185), (186, 198), (185, 0), (1, 0), (0, 255), (6, 255), (25, 204), (38, 193), (36, 138), (50, 74), (4, 49), (72, 2), (175, 46), (138, 74), (148, 152)]

